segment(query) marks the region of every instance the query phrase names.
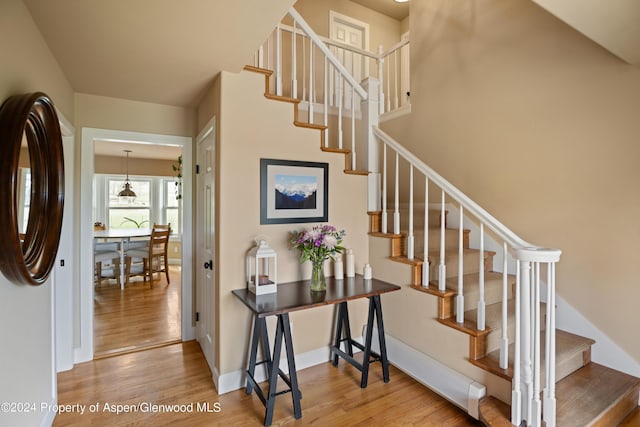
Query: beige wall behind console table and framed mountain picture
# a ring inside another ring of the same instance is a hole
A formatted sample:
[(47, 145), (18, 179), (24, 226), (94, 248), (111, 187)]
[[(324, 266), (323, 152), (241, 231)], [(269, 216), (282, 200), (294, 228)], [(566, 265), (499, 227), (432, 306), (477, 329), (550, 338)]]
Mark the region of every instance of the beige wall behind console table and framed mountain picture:
[[(222, 114), (219, 118), (217, 183), (217, 239), (219, 290), (218, 370), (221, 374), (246, 366), (251, 329), (249, 310), (231, 294), (245, 286), (245, 254), (257, 236), (266, 237), (278, 253), (278, 280), (308, 278), (308, 265), (288, 249), (293, 230), (314, 224), (260, 225), (260, 158), (329, 163), (329, 223), (347, 231), (345, 244), (356, 253), (356, 269), (367, 262), (366, 177), (347, 176), (344, 158), (323, 154), (315, 130), (292, 125), (291, 104), (264, 98), (264, 78), (243, 72), (223, 72), (220, 83)], [(353, 331), (366, 322), (366, 304), (351, 306)], [(294, 350), (297, 354), (330, 344), (333, 308), (321, 307), (292, 313)]]

